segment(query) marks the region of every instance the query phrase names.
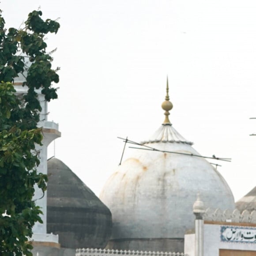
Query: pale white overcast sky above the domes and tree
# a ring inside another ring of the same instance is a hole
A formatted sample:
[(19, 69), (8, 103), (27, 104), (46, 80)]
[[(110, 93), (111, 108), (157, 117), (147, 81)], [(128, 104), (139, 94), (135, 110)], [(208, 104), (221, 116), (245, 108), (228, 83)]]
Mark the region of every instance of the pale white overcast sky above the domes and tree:
[(61, 25), (47, 41), (61, 68), (56, 157), (96, 195), (120, 162), (117, 136), (143, 141), (162, 124), (167, 74), (174, 128), (200, 154), (232, 158), (218, 170), (235, 200), (256, 185), (255, 0), (0, 3), (7, 27), (39, 6)]

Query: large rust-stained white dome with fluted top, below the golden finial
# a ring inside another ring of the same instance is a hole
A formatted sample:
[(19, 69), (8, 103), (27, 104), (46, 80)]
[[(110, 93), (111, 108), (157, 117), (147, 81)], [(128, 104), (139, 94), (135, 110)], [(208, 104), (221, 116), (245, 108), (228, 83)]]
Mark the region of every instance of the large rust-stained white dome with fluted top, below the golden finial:
[(113, 218), (109, 248), (181, 252), (185, 231), (194, 228), (198, 192), (206, 208), (235, 208), (221, 174), (205, 158), (186, 155), (200, 154), (173, 128), (168, 114), (143, 142), (160, 151), (134, 149), (102, 189), (100, 199)]

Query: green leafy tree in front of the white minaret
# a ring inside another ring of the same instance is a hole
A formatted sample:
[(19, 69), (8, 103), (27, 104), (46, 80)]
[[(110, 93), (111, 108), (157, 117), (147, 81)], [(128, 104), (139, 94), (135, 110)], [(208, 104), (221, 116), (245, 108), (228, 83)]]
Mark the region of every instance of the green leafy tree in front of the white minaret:
[[(37, 172), (36, 145), (41, 145), (37, 128), (41, 89), (48, 102), (57, 98), (52, 83), (59, 82), (52, 69), (52, 57), (46, 52), (45, 35), (57, 33), (60, 24), (41, 19), (41, 11), (32, 11), (24, 28), (5, 29), (0, 11), (0, 255), (31, 256), (35, 222), (42, 222), (40, 208), (33, 195), (34, 186), (44, 192), (47, 176)], [(30, 65), (26, 66), (29, 62)], [(25, 75), (27, 93), (15, 94), (13, 82)]]

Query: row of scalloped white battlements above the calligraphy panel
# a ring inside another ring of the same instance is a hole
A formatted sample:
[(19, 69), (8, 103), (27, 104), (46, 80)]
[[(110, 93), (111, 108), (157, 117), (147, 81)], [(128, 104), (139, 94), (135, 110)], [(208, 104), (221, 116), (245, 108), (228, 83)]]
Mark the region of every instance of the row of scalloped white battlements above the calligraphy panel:
[(256, 211), (251, 213), (247, 210), (240, 213), (237, 209), (230, 210), (226, 209), (221, 211), (220, 209), (207, 208), (203, 219), (206, 221), (219, 221), (219, 222), (246, 222), (256, 223)]

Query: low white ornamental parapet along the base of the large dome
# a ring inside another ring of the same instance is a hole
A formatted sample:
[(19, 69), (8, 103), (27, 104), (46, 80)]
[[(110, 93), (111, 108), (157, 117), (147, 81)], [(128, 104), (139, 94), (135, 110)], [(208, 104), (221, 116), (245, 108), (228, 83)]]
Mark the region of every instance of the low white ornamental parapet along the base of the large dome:
[(183, 252), (151, 252), (151, 251), (126, 251), (126, 250), (109, 250), (109, 249), (94, 249), (83, 248), (76, 249), (75, 256), (188, 256)]

